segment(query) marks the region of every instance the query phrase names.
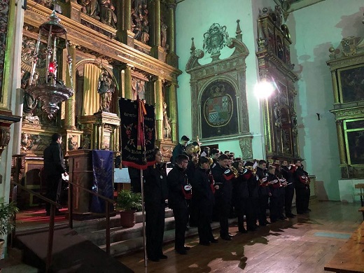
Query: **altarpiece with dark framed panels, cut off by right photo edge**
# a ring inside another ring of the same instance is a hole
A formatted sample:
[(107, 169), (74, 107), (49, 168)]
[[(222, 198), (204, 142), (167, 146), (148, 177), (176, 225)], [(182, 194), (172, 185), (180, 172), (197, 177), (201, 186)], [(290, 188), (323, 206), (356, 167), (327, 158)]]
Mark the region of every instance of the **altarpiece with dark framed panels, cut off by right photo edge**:
[(343, 38), (329, 51), (342, 179), (364, 179), (364, 38)]

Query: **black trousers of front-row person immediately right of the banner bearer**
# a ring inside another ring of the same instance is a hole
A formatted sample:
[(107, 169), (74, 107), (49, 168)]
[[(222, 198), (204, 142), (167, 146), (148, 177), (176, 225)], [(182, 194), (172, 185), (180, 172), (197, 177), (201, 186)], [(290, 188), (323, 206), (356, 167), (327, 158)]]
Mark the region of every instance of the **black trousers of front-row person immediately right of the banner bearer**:
[(174, 214), (174, 248), (177, 251), (184, 251), (185, 246), (185, 233), (188, 223), (188, 209), (173, 209)]

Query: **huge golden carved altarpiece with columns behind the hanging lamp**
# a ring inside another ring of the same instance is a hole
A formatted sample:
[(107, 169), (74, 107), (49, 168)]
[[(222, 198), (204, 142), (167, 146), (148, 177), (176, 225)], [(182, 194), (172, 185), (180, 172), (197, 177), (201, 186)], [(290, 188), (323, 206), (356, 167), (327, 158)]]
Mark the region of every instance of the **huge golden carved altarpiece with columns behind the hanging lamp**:
[[(120, 97), (139, 96), (155, 105), (157, 145), (170, 158), (178, 142), (176, 86), (181, 74), (175, 53), (176, 1), (57, 1), (55, 9), (71, 49), (75, 93), (49, 118), (41, 110), (41, 102), (27, 94), (27, 85), (38, 27), (48, 20), (52, 9), (50, 1), (27, 1), (22, 37), (21, 153), (13, 157), (14, 179), (32, 190), (42, 190), (43, 150), (55, 132), (62, 134), (64, 154), (70, 161), (85, 156), (79, 150), (119, 152)], [(45, 44), (42, 41), (41, 50)], [(59, 78), (69, 86), (66, 53), (61, 48), (64, 46), (59, 47)], [(41, 69), (36, 73), (41, 75)], [(38, 204), (32, 196), (19, 195), (21, 207)]]

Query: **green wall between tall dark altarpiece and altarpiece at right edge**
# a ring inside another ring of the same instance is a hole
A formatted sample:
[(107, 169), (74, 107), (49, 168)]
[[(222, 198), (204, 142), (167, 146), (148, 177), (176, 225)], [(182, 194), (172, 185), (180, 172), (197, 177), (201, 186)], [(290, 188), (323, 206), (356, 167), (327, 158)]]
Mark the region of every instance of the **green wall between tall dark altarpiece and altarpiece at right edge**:
[[(300, 76), (297, 116), (300, 151), (309, 173), (323, 181), (321, 195), (339, 200), (339, 153), (328, 48), (342, 38), (364, 36), (363, 0), (326, 0), (296, 10), (288, 16), (293, 38), (292, 62)], [(320, 120), (316, 113), (320, 113)]]

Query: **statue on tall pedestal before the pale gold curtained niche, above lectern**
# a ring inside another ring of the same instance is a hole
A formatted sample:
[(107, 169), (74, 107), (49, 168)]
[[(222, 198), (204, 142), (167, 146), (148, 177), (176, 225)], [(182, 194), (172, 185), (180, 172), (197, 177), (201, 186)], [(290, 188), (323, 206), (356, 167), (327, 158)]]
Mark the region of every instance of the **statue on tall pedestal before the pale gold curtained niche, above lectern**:
[(97, 87), (97, 92), (100, 94), (100, 109), (99, 112), (109, 112), (110, 104), (113, 98), (113, 92), (115, 85), (113, 80), (109, 76), (109, 72), (104, 70), (99, 76), (99, 85)]

